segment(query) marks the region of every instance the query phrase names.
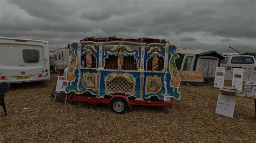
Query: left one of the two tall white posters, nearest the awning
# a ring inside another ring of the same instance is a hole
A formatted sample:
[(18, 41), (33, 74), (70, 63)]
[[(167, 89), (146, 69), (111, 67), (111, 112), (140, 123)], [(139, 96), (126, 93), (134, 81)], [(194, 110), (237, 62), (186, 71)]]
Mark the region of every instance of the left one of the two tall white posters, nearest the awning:
[(225, 77), (225, 68), (216, 67), (215, 78), (214, 78), (214, 88), (224, 87), (224, 77)]

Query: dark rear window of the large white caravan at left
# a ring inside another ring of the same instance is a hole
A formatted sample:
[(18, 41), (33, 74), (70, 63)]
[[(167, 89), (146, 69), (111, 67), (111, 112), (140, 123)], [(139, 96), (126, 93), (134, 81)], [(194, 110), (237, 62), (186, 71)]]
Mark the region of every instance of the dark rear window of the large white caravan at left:
[(39, 50), (23, 49), (23, 59), (25, 62), (30, 62), (30, 63), (39, 62)]

